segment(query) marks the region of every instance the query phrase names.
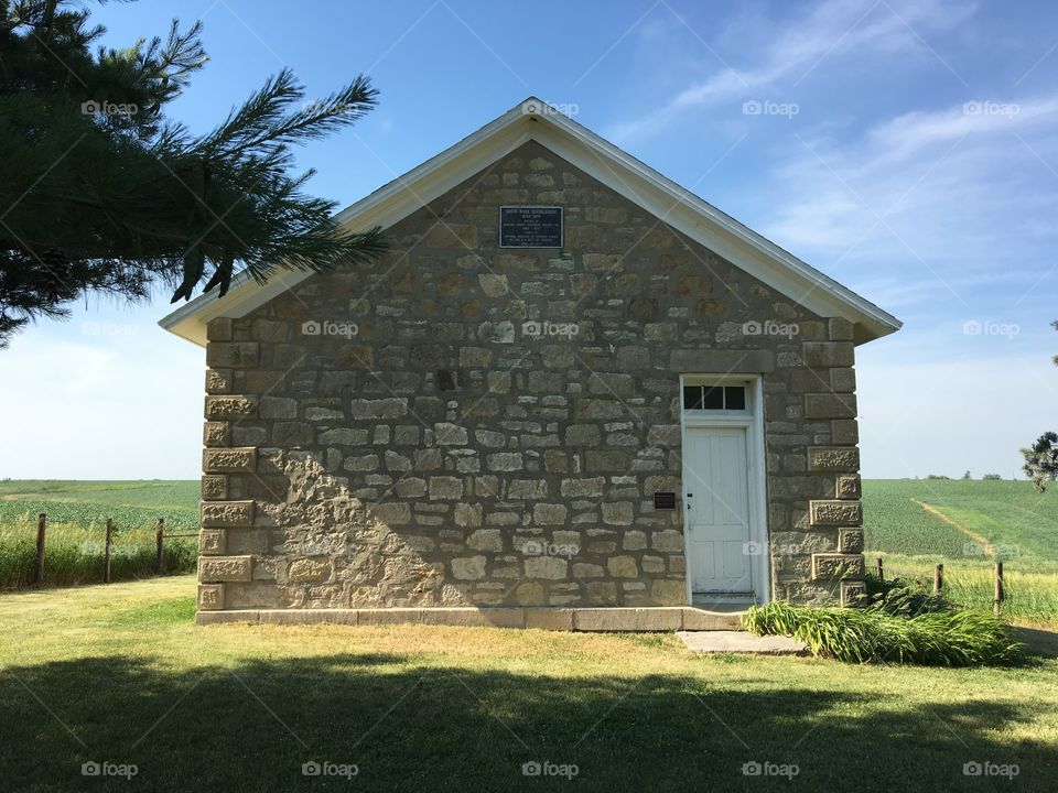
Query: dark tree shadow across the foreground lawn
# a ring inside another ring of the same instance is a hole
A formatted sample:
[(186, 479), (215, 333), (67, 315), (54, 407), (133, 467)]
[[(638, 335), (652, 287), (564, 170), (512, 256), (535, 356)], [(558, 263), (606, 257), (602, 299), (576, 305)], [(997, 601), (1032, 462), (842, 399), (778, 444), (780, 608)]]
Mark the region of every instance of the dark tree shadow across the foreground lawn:
[[(1006, 783), (963, 774), (990, 761), (1018, 764), (1021, 790), (1051, 790), (1052, 747), (996, 737), (1046, 707), (907, 706), (765, 680), (549, 677), (396, 654), (180, 671), (107, 656), (0, 672), (0, 787), (949, 791)], [(91, 761), (138, 773), (82, 775)], [(358, 773), (306, 776), (310, 762)], [(526, 775), (532, 762), (551, 775)], [(747, 762), (798, 774), (746, 775)], [(559, 775), (573, 765), (572, 782)]]

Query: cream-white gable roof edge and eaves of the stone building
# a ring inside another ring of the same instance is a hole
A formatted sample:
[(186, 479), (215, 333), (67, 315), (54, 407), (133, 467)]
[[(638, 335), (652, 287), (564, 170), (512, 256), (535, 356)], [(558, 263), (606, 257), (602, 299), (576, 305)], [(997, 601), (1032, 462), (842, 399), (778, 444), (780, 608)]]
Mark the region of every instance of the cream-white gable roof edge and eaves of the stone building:
[[(335, 218), (354, 231), (389, 228), (530, 140), (809, 311), (851, 321), (856, 344), (899, 329), (902, 323), (896, 317), (536, 97), (516, 105)], [(202, 294), (163, 317), (159, 325), (205, 346), (207, 322), (218, 316), (245, 316), (312, 274), (281, 270), (260, 284), (242, 271), (233, 278), (224, 297), (213, 292)]]

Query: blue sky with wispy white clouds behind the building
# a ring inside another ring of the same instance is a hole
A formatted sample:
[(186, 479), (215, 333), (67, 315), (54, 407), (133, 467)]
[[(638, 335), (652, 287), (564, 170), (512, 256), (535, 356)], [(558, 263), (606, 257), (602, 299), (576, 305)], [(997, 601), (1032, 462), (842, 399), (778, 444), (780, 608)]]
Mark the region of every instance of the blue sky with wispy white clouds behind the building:
[[(905, 327), (857, 351), (863, 472), (1017, 470), (1056, 428), (1058, 6), (1048, 2), (140, 2), (106, 43), (205, 23), (171, 113), (204, 131), (284, 65), (380, 107), (299, 152), (350, 204), (528, 95)], [(165, 300), (90, 298), (0, 351), (0, 476), (192, 478), (203, 351)]]

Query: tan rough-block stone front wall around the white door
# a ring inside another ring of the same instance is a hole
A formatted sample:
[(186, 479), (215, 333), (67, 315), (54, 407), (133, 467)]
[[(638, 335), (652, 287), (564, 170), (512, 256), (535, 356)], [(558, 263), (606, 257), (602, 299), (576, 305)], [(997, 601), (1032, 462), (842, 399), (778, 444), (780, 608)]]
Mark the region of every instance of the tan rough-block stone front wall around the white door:
[[(497, 245), (561, 205), (562, 250)], [(199, 609), (685, 604), (679, 376), (764, 376), (773, 588), (860, 586), (852, 325), (537, 143), (208, 327)]]

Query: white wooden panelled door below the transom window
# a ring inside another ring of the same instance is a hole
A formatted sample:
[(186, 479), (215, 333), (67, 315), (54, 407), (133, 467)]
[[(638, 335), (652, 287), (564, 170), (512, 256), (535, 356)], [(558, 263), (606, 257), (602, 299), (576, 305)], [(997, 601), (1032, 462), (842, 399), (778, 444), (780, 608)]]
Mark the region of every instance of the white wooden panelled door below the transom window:
[(695, 593), (752, 593), (749, 466), (745, 427), (688, 427), (683, 492)]

